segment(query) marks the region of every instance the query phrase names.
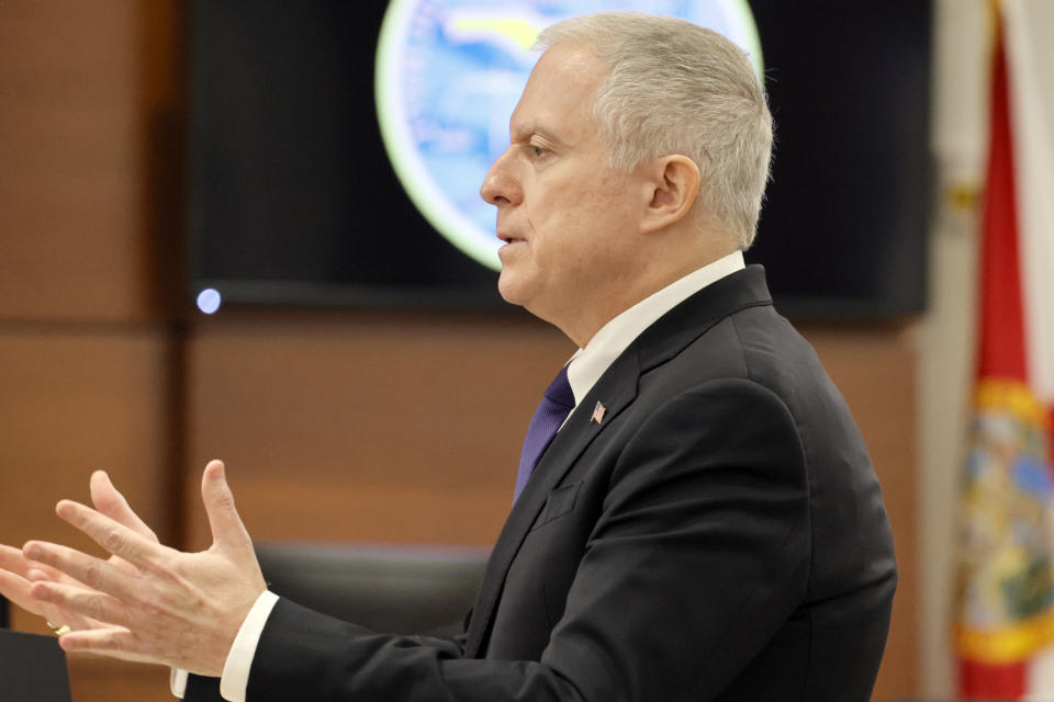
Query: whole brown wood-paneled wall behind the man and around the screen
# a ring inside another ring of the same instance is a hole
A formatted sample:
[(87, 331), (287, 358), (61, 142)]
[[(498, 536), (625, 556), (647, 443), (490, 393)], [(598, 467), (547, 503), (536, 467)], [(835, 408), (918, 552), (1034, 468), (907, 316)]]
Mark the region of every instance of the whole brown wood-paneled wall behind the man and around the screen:
[[(490, 545), (570, 343), (516, 313), (184, 317), (186, 31), (179, 0), (0, 2), (0, 542), (85, 545), (52, 507), (87, 499), (102, 467), (166, 542), (200, 547), (200, 472), (223, 457), (259, 540)], [(894, 524), (900, 590), (876, 699), (910, 697), (910, 332), (806, 331)], [(169, 699), (161, 669), (71, 672), (77, 702)]]

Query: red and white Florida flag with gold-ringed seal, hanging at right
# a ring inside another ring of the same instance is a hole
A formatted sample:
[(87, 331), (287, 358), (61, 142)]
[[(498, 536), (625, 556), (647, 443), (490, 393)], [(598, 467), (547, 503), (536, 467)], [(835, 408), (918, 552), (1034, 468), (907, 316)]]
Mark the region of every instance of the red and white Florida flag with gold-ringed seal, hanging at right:
[(955, 647), (964, 698), (1054, 700), (1054, 151), (1025, 5), (998, 8)]

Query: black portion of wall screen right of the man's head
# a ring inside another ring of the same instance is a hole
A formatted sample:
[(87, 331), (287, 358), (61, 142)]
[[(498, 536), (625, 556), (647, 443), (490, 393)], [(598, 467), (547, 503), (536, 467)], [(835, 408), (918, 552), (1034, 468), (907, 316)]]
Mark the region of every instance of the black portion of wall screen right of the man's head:
[(748, 260), (798, 316), (926, 302), (930, 3), (751, 2), (776, 124)]

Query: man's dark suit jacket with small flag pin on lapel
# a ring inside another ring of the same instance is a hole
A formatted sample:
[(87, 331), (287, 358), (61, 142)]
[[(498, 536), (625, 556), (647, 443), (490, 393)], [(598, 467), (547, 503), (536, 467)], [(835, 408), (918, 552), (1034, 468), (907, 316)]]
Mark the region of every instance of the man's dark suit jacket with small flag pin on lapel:
[(463, 638), (280, 600), (248, 700), (865, 702), (895, 587), (853, 418), (751, 267), (652, 325), (580, 403)]

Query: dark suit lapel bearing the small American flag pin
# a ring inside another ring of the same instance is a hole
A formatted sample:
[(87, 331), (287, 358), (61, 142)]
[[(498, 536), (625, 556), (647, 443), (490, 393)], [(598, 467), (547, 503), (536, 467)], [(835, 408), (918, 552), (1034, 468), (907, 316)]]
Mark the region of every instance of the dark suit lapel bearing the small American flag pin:
[[(715, 282), (671, 309), (612, 363), (542, 454), (527, 487), (505, 521), (472, 611), (466, 657), (480, 655), (508, 567), (549, 494), (593, 440), (633, 401), (641, 373), (676, 355), (731, 313), (771, 303), (764, 271), (761, 267), (749, 267), (745, 271)], [(601, 422), (592, 420), (596, 403), (603, 403), (606, 408)]]

